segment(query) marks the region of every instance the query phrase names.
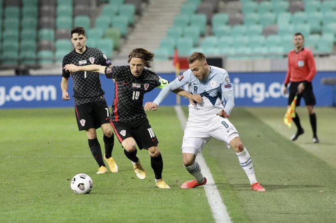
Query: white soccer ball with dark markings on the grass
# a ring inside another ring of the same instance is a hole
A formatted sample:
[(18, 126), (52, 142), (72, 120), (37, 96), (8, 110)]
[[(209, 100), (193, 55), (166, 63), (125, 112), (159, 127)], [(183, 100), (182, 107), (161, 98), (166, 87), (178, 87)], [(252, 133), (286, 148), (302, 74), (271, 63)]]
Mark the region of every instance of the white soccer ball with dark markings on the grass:
[(93, 181), (90, 176), (80, 173), (72, 178), (70, 186), (75, 194), (89, 194), (93, 187)]

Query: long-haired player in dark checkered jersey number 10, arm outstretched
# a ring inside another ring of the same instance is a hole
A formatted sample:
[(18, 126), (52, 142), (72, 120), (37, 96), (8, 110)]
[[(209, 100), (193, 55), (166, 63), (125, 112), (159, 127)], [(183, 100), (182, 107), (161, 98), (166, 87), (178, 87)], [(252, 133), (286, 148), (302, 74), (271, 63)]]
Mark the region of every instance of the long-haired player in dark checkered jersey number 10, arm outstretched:
[[(128, 56), (129, 66), (75, 66), (66, 65), (70, 72), (91, 71), (105, 74), (115, 80), (115, 99), (112, 105), (111, 123), (115, 134), (124, 147), (124, 153), (133, 164), (139, 179), (146, 178), (146, 172), (136, 156), (136, 145), (147, 149), (151, 158), (151, 167), (155, 174), (155, 184), (159, 188), (170, 188), (162, 179), (163, 161), (158, 148), (158, 139), (147, 119), (143, 101), (144, 94), (155, 87), (162, 88), (169, 82), (154, 72), (145, 69), (151, 67), (154, 53), (136, 48)], [(179, 88), (178, 95), (191, 99), (191, 94)]]

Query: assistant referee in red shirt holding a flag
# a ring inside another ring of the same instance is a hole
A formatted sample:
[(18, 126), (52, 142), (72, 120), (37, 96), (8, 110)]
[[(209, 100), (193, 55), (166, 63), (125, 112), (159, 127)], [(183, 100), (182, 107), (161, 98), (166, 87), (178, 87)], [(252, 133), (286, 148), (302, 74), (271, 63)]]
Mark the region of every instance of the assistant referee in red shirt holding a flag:
[[(284, 94), (287, 94), (287, 85), (291, 82), (289, 86), (288, 107), (291, 106), (296, 94), (296, 106), (300, 105), (301, 98), (303, 97), (313, 130), (313, 143), (318, 143), (316, 114), (314, 111), (316, 100), (312, 85), (312, 81), (316, 75), (314, 56), (309, 49), (304, 48), (304, 38), (301, 33), (294, 34), (293, 44), (294, 50), (288, 53), (288, 71), (285, 79)], [(293, 121), (297, 127), (297, 131), (291, 137), (291, 140), (295, 141), (304, 133), (304, 130), (296, 112)]]

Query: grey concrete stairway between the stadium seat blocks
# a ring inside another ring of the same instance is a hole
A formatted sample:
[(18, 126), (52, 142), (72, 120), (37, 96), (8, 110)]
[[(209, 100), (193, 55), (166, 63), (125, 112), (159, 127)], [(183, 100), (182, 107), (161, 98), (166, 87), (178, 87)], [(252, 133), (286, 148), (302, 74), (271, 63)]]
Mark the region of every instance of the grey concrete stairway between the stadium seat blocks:
[(160, 40), (165, 37), (167, 28), (173, 24), (174, 17), (180, 13), (184, 2), (185, 0), (150, 1), (143, 16), (127, 36), (118, 56), (128, 56), (134, 48), (150, 51), (158, 48)]

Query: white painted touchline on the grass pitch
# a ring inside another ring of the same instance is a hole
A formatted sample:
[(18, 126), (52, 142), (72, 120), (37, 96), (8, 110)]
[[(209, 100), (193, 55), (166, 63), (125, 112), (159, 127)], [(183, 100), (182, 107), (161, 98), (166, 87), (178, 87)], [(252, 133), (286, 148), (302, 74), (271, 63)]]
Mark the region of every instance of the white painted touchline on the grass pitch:
[[(180, 120), (181, 127), (184, 130), (187, 119), (185, 118), (184, 113), (180, 106), (175, 106), (174, 108), (177, 113), (177, 117)], [(197, 155), (196, 161), (201, 166), (203, 175), (206, 176), (207, 178), (207, 184), (204, 185), (204, 190), (205, 194), (207, 195), (208, 202), (211, 207), (212, 215), (213, 218), (215, 219), (215, 222), (232, 223), (227, 207), (223, 204), (223, 201), (221, 200), (215, 181), (213, 180), (212, 174), (207, 164), (205, 163), (202, 153)]]

